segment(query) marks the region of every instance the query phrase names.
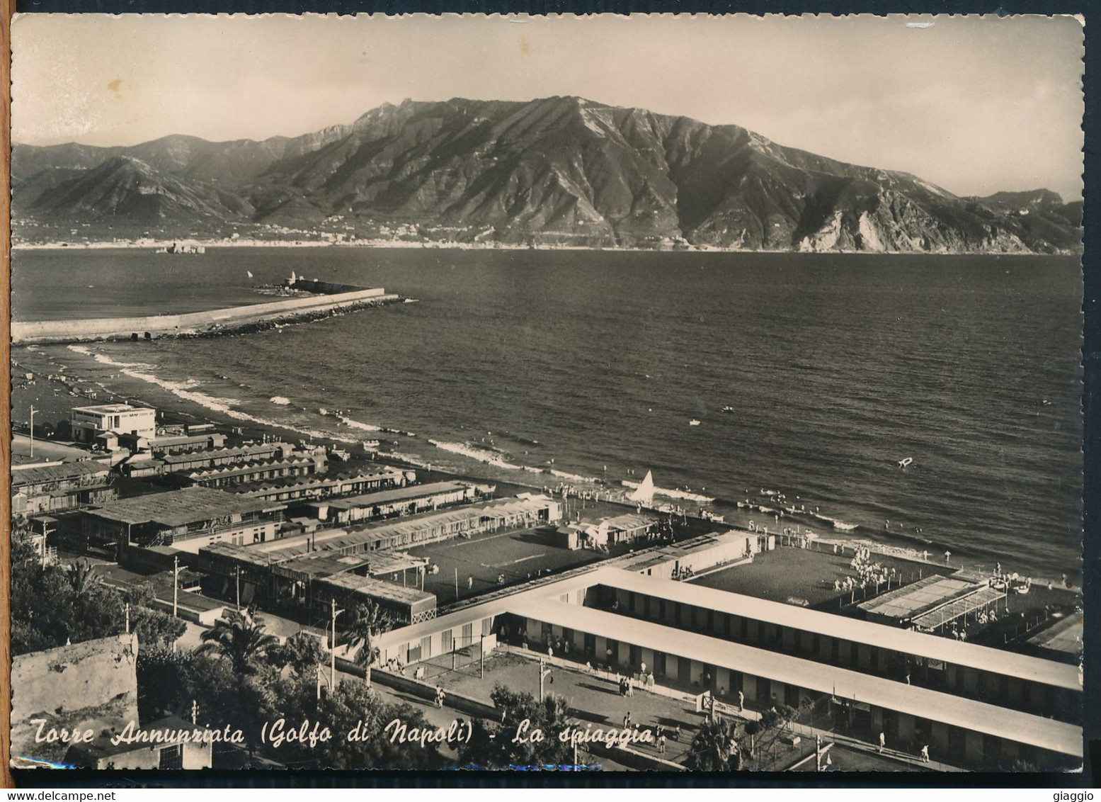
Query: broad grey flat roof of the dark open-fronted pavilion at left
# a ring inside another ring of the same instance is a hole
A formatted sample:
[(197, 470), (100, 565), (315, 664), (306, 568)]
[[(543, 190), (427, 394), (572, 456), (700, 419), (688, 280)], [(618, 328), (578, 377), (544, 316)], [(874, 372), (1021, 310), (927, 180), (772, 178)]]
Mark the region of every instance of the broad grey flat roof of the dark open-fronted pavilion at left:
[(284, 505), (275, 501), (241, 498), (231, 492), (206, 487), (185, 487), (182, 490), (154, 492), (112, 501), (90, 510), (89, 514), (121, 523), (134, 524), (152, 521), (166, 527), (183, 527), (225, 516), (281, 509), (284, 509)]

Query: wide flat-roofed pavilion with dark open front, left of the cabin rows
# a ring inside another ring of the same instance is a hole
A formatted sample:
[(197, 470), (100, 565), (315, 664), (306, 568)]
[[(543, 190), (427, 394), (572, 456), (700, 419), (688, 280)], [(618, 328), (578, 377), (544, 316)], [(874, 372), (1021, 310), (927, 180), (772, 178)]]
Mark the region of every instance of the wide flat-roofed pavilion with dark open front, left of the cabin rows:
[(275, 537), (284, 505), (188, 487), (122, 499), (84, 516), (86, 541), (99, 546), (171, 545), (197, 553), (220, 542), (261, 543)]

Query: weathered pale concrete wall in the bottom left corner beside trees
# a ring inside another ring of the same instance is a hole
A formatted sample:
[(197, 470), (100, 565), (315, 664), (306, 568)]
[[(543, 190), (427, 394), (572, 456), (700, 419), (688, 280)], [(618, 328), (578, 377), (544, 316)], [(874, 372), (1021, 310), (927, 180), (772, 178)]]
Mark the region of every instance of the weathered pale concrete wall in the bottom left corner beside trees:
[[(120, 635), (20, 654), (11, 664), (11, 754), (58, 761), (67, 744), (36, 744), (37, 725), (138, 723), (138, 636)], [(98, 733), (96, 733), (98, 735)]]

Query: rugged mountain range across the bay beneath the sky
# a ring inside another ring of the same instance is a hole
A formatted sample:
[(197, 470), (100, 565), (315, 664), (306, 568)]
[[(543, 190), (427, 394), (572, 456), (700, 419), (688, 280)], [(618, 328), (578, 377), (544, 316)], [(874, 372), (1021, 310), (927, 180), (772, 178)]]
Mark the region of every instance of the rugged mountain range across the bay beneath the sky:
[(577, 97), (383, 105), (261, 142), (15, 144), (17, 241), (411, 239), (745, 250), (1073, 252), (1081, 202), (961, 197), (738, 126)]

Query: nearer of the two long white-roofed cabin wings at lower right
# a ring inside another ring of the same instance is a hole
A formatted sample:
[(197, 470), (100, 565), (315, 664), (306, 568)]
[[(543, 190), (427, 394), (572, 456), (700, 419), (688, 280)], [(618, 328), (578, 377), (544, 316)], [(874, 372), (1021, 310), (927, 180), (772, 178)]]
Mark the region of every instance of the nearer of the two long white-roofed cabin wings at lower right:
[[(830, 728), (916, 755), (929, 745), (938, 759), (975, 768), (1067, 767), (1082, 755), (1080, 726), (1007, 709), (951, 693), (869, 675), (800, 657), (734, 643), (651, 621), (624, 627), (622, 616), (547, 598), (527, 597), (510, 610), (532, 637), (570, 638), (574, 652), (611, 651), (621, 666), (653, 665), (679, 687), (710, 690), (729, 701), (741, 692), (751, 706), (826, 709)], [(637, 670), (637, 669), (635, 669)]]

